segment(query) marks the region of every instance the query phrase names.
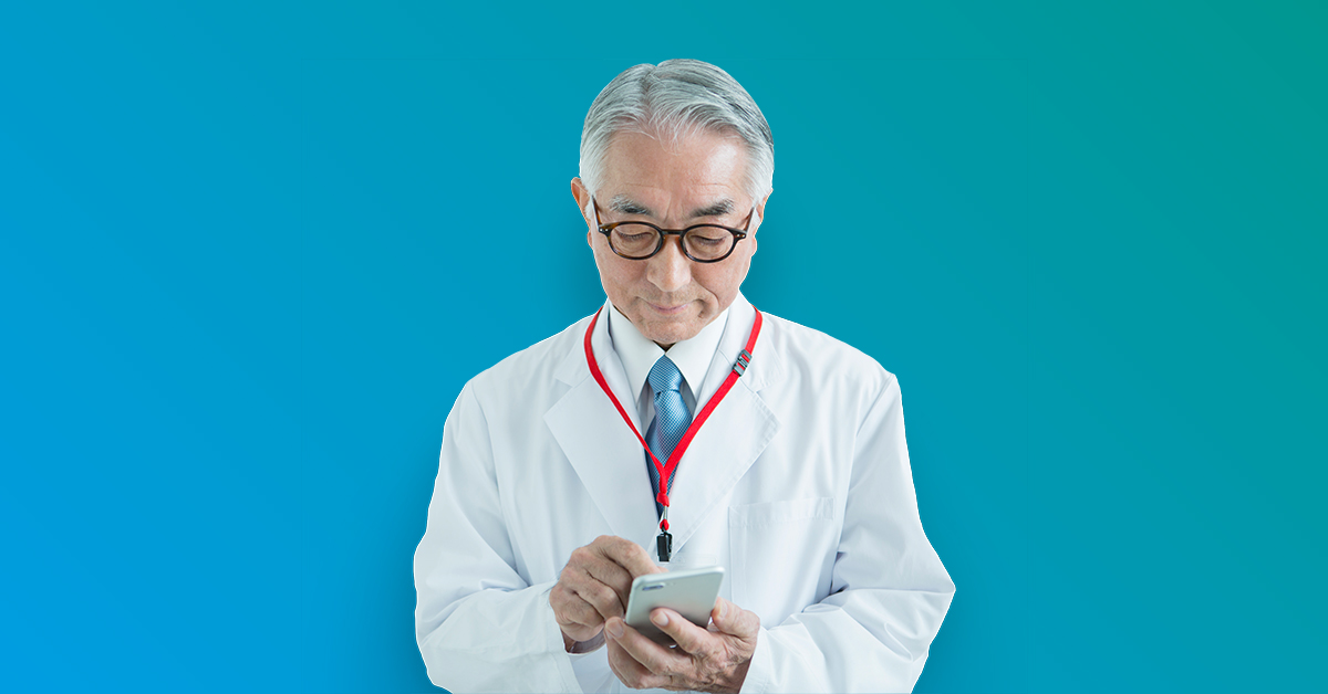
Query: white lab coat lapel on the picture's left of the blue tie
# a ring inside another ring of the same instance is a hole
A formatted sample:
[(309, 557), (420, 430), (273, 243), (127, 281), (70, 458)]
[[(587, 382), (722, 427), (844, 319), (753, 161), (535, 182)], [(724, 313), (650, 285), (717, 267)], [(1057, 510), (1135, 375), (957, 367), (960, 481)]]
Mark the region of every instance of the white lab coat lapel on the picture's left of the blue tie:
[[(600, 373), (632, 423), (640, 427), (636, 399), (627, 394), (627, 374), (614, 352), (608, 318), (603, 313), (595, 325), (591, 345)], [(559, 365), (556, 377), (571, 390), (544, 413), (544, 423), (614, 535), (653, 547), (657, 524), (645, 454), (612, 401), (590, 374), (582, 340), (576, 340), (576, 346)]]

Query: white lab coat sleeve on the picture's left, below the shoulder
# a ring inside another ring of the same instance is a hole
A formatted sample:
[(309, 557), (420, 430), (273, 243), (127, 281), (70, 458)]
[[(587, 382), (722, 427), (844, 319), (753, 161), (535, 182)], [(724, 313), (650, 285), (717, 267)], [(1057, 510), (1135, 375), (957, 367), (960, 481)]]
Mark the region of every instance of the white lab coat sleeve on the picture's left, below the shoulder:
[(457, 693), (580, 691), (548, 604), (554, 581), (530, 585), (518, 573), (471, 383), (444, 426), (414, 579), (416, 640), (434, 685)]

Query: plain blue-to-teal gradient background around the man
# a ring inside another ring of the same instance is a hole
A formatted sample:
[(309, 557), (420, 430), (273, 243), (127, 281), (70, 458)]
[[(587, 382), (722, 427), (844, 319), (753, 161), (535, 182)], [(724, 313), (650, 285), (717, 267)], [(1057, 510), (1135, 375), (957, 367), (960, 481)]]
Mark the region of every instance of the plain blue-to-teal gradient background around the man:
[(1325, 686), (1321, 5), (11, 5), (7, 689), (432, 690), (444, 418), (602, 301), (580, 122), (669, 57), (774, 131), (746, 296), (899, 376), (918, 691)]

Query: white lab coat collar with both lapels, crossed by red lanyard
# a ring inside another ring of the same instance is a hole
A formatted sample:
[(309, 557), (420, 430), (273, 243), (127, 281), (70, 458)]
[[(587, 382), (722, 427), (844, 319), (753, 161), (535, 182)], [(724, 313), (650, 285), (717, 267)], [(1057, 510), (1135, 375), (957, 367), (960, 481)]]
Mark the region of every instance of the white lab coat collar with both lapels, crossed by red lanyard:
[[(600, 316), (603, 318), (603, 316)], [(756, 311), (738, 295), (729, 307), (728, 322), (706, 383), (721, 382), (746, 345)], [(563, 358), (556, 378), (571, 389), (544, 414), (544, 422), (567, 455), (612, 532), (651, 549), (653, 555), (659, 519), (651, 499), (645, 456), (636, 437), (623, 423), (614, 403), (590, 376), (582, 341), (587, 321), (578, 324), (575, 345)], [(761, 455), (780, 430), (780, 421), (760, 397), (760, 390), (781, 373), (781, 360), (766, 321), (752, 364), (697, 433), (679, 463), (669, 494), (669, 531), (673, 549), (681, 551), (705, 518), (718, 508), (738, 479)], [(614, 353), (608, 321), (600, 320), (591, 334), (591, 348), (610, 389), (636, 425), (627, 374)], [(625, 395), (625, 398), (624, 398)], [(706, 398), (708, 399), (708, 398)], [(590, 539), (587, 539), (590, 541)]]

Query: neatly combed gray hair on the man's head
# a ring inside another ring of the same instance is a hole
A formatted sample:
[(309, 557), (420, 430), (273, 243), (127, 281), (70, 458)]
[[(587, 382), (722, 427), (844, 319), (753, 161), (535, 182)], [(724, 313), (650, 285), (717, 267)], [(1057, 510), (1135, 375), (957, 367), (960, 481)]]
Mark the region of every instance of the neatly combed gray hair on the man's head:
[(729, 73), (699, 60), (665, 60), (619, 73), (595, 97), (582, 127), (580, 178), (594, 194), (614, 135), (640, 133), (676, 145), (699, 131), (734, 133), (746, 143), (746, 192), (774, 179), (774, 138), (752, 96)]

